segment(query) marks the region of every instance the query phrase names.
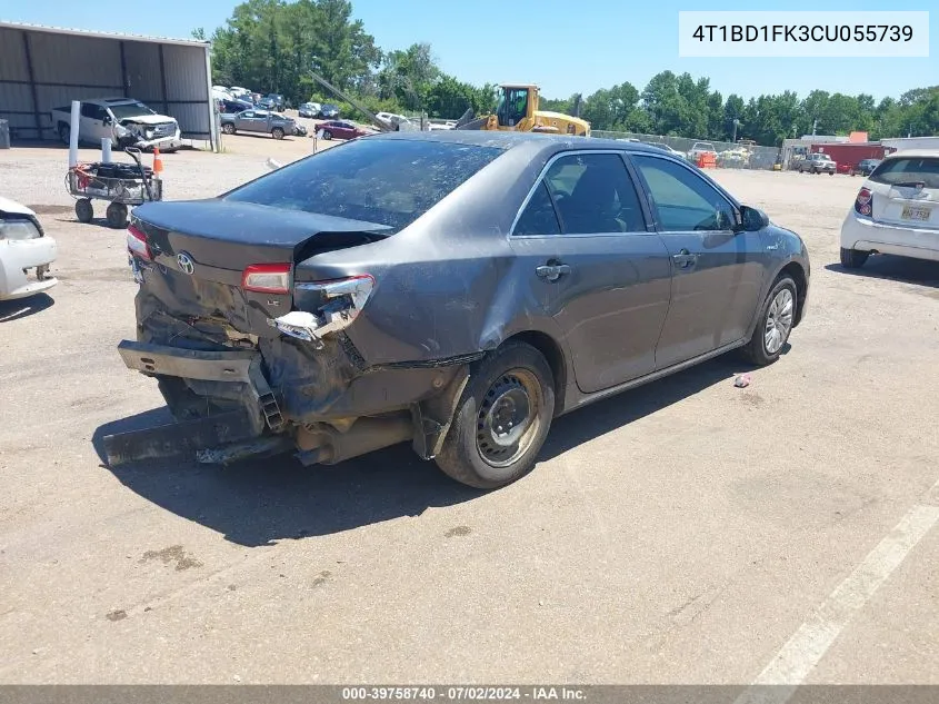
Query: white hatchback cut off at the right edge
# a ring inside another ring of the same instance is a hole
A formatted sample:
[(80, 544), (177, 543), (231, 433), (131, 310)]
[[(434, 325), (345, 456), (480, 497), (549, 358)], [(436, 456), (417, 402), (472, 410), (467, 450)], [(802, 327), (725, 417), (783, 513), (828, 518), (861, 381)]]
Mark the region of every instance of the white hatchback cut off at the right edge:
[(939, 150), (893, 152), (865, 180), (841, 226), (841, 264), (872, 254), (939, 261)]

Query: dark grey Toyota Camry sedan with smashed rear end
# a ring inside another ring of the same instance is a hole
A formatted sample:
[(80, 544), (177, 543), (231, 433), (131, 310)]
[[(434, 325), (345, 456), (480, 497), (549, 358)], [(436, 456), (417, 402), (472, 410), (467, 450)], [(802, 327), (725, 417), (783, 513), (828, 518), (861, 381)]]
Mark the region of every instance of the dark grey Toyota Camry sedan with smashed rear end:
[[(410, 442), (483, 488), (529, 472), (563, 413), (732, 349), (773, 363), (806, 310), (799, 236), (683, 160), (580, 141), (388, 132), (139, 206), (121, 357), (180, 433), (226, 418), (203, 462)], [(151, 433), (104, 438), (109, 462)]]

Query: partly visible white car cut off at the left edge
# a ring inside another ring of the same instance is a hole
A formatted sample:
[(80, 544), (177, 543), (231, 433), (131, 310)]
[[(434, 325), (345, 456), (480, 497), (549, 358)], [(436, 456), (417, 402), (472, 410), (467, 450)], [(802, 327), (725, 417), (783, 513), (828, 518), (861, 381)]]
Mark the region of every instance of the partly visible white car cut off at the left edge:
[(0, 197), (0, 300), (56, 286), (59, 281), (49, 276), (49, 267), (57, 254), (56, 240), (46, 236), (33, 211)]

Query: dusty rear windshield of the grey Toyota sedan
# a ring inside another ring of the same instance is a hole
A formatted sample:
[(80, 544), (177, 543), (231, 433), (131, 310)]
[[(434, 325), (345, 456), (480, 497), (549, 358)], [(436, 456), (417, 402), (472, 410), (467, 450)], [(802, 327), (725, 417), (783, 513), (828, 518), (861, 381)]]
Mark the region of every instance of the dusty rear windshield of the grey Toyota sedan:
[(500, 153), (495, 147), (366, 137), (271, 171), (224, 199), (399, 230)]

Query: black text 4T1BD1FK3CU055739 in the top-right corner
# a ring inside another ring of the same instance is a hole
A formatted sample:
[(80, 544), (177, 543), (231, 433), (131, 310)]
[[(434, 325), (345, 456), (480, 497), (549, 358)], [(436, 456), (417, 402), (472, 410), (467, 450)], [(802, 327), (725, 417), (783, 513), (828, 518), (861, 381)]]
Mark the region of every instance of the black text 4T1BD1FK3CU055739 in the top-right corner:
[(698, 24), (698, 41), (907, 42), (909, 24)]

